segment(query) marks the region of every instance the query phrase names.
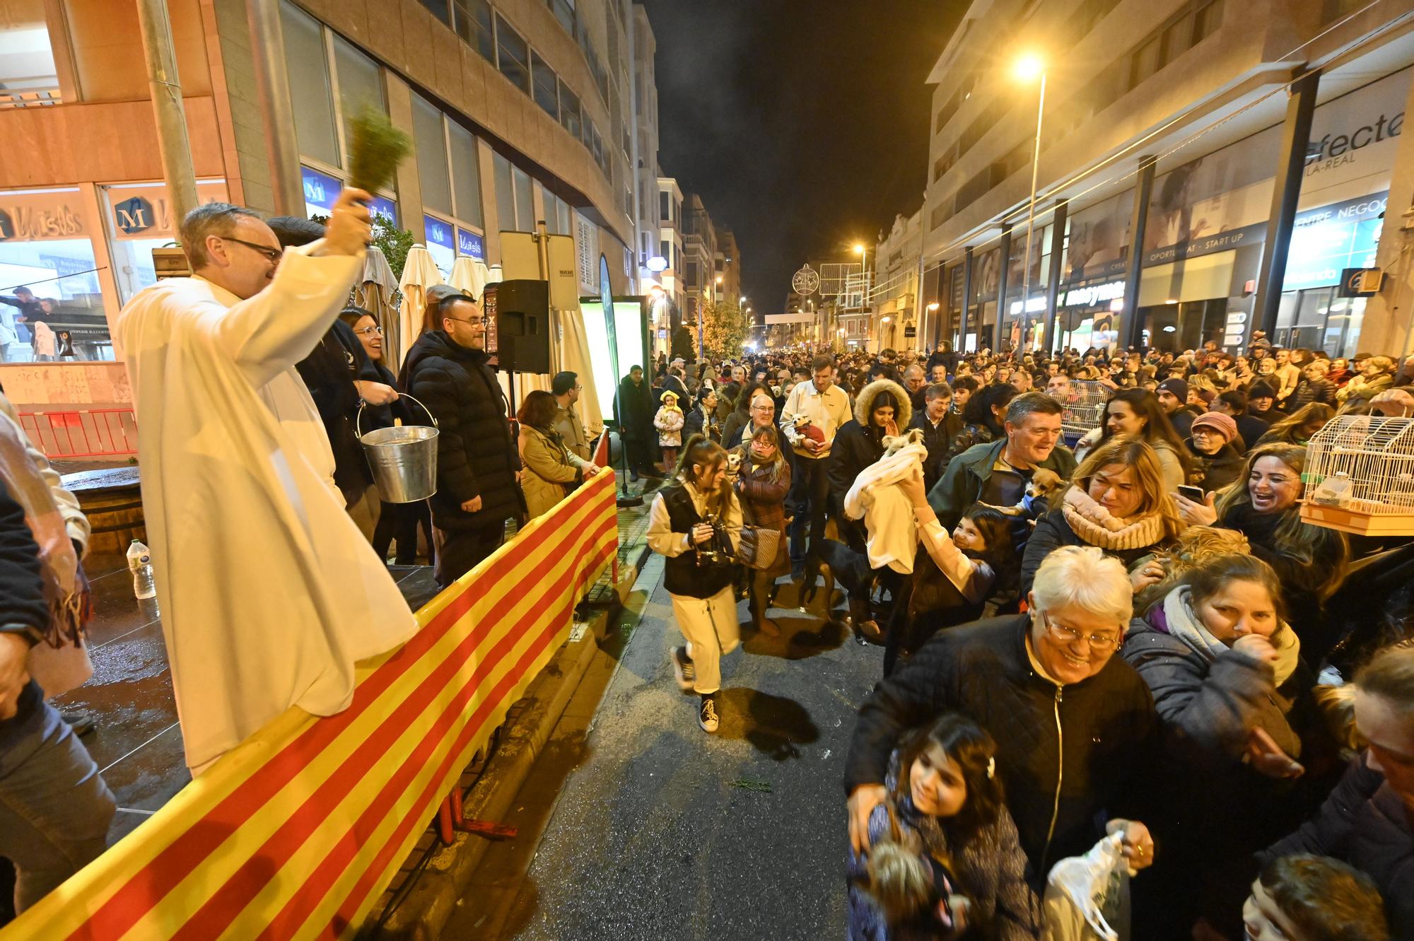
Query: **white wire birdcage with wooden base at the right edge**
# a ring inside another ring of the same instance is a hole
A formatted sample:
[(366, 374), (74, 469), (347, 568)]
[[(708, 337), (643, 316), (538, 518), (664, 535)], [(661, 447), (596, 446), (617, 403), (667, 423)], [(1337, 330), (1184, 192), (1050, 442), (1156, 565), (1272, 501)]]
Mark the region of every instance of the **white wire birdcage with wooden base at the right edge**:
[(1362, 535), (1414, 535), (1414, 418), (1336, 415), (1307, 445), (1301, 519)]

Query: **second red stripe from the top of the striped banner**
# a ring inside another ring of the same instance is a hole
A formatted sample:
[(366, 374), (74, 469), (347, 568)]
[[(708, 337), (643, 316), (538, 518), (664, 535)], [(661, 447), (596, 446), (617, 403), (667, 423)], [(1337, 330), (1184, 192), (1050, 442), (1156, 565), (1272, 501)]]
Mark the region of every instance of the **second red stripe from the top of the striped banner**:
[[(617, 524), (617, 520), (614, 520)], [(607, 527), (602, 527), (607, 528)], [(581, 533), (583, 534), (583, 533)], [(544, 578), (550, 569), (563, 561), (563, 554), (560, 552), (546, 552), (547, 558), (540, 562), (533, 572), (529, 574), (526, 581), (537, 584)], [(570, 567), (566, 572), (553, 582), (550, 591), (532, 606), (526, 615), (518, 619), (508, 632), (506, 637), (501, 640), (492, 650), (486, 654), (482, 664), (478, 665), (477, 671), (468, 680), (468, 684), (479, 682), (484, 675), (496, 668), (501, 658), (515, 646), (516, 640), (520, 637), (520, 629), (527, 623), (533, 623), (534, 619), (543, 616), (544, 609), (547, 609), (557, 593), (563, 593), (566, 584), (574, 578), (575, 568)], [(407, 732), (410, 723), (417, 719), (419, 715), (431, 704), (431, 701), (440, 694), (447, 682), (455, 675), (457, 670), (465, 664), (471, 657), (472, 651), (481, 644), (485, 633), (493, 629), (503, 617), (502, 616), (488, 616), (484, 617), (477, 627), (447, 656), (447, 658), (438, 664), (438, 667), (419, 684), (417, 690), (413, 691), (392, 715), (383, 721), (376, 730), (366, 736), (358, 746), (358, 749), (344, 760), (344, 763), (331, 774), (320, 787), (311, 794), (301, 807), (294, 811), (274, 834), (260, 846), (256, 853), (242, 863), (242, 866), (232, 873), (232, 876), (219, 887), (216, 892), (201, 906), (198, 911), (187, 920), (181, 928), (171, 937), (174, 941), (191, 938), (194, 941), (204, 941), (206, 938), (218, 937), (225, 931), (230, 921), (240, 913), (246, 904), (250, 903), (256, 894), (270, 882), (274, 876), (269, 860), (271, 859), (288, 859), (304, 842), (314, 834), (314, 831), (328, 818), (329, 812), (335, 808), (339, 798), (349, 790), (356, 787), (359, 781), (378, 764), (378, 760), (387, 752), (389, 747), (397, 740), (399, 736)], [(421, 763), (410, 764), (413, 771), (421, 767)], [(366, 812), (372, 812), (378, 808), (378, 812), (386, 812), (386, 804), (375, 804)], [(322, 868), (322, 865), (321, 865)], [(300, 894), (308, 887), (308, 882), (301, 889)], [(300, 897), (300, 896), (296, 896)]]

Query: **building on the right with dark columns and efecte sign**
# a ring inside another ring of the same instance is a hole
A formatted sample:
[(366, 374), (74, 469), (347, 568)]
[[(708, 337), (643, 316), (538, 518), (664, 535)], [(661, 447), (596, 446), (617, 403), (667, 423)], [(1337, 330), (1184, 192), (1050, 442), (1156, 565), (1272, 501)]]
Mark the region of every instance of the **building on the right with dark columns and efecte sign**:
[[(1237, 350), (1264, 329), (1332, 356), (1407, 348), (1401, 278), (1342, 284), (1406, 243), (1411, 10), (974, 3), (929, 79), (929, 345)], [(1044, 62), (1044, 109), (1021, 52)]]

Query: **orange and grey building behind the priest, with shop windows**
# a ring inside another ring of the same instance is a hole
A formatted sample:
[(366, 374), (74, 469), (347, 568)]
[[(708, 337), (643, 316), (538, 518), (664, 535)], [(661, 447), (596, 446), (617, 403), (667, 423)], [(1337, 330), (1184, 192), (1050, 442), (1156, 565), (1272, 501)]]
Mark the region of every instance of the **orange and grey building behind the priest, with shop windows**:
[[(23, 284), (51, 298), (74, 349), (69, 362), (34, 363), (42, 353), (18, 329), (0, 383), (23, 404), (127, 404), (107, 324), (156, 280), (151, 249), (175, 233), (136, 4), (18, 7), (33, 7), (33, 23), (0, 27), (0, 47), (44, 48), (23, 58), (28, 85), (4, 92), (0, 109), (10, 143), (0, 150), (0, 295)], [(170, 0), (167, 8), (199, 198), (273, 212), (267, 103), (255, 90), (246, 3)], [(281, 0), (280, 27), (276, 55), (288, 78), (305, 212), (327, 212), (348, 178), (348, 123), (369, 106), (414, 141), (373, 211), (424, 243), (444, 276), (457, 256), (498, 264), (501, 232), (544, 220), (575, 239), (583, 292), (598, 292), (600, 254), (614, 291), (636, 292), (645, 216), (633, 154), (648, 129), (655, 151), (645, 160), (656, 162), (658, 124), (652, 71), (636, 59), (639, 47), (653, 48), (641, 8), (626, 0)], [(0, 57), (0, 68), (17, 62)], [(0, 85), (13, 88), (14, 78), (0, 75)], [(13, 329), (13, 309), (0, 309), (0, 321)]]

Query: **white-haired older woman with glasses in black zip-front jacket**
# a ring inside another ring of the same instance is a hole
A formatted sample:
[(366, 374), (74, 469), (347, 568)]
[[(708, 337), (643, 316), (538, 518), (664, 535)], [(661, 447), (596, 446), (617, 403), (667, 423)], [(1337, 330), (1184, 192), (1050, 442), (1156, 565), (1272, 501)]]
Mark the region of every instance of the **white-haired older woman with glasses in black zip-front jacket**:
[(1145, 790), (1135, 779), (1157, 729), (1148, 687), (1114, 656), (1134, 606), (1124, 565), (1093, 547), (1058, 548), (1028, 602), (1028, 613), (936, 634), (864, 701), (844, 773), (855, 851), (867, 851), (899, 735), (956, 711), (997, 740), (997, 774), (1038, 882), (1094, 845), (1096, 821), (1123, 834), (1133, 868), (1152, 862), (1148, 829), (1120, 817)]

